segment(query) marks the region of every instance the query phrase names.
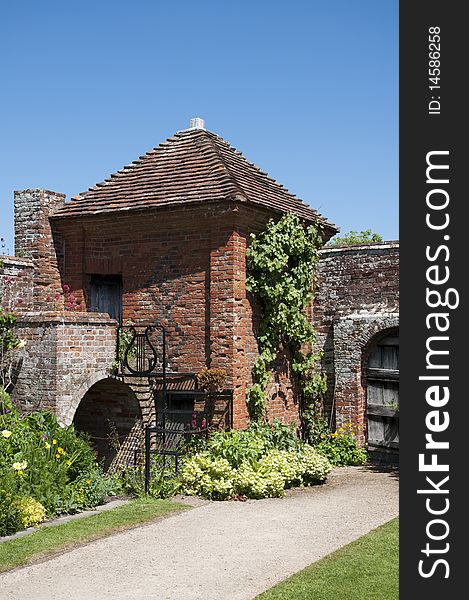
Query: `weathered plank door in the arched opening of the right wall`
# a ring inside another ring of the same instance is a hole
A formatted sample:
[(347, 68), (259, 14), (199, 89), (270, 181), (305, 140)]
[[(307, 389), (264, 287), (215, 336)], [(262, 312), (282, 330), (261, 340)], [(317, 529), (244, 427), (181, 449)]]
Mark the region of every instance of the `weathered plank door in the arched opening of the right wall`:
[[(368, 449), (394, 460), (399, 451), (399, 332), (380, 339), (365, 368)], [(386, 460), (386, 458), (384, 458)]]

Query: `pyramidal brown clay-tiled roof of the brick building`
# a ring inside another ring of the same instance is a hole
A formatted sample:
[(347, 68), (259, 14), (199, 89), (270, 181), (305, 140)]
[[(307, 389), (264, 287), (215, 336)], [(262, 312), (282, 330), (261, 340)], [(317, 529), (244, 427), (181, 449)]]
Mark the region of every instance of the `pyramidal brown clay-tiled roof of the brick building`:
[(156, 208), (181, 203), (242, 201), (293, 212), (337, 228), (238, 150), (206, 129), (177, 132), (132, 164), (72, 198), (54, 217)]

